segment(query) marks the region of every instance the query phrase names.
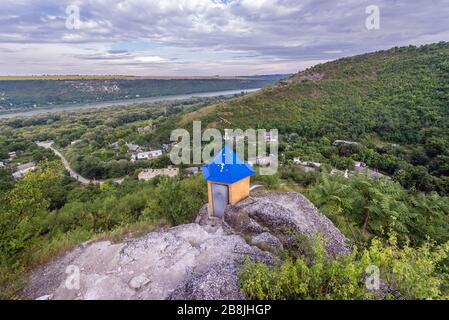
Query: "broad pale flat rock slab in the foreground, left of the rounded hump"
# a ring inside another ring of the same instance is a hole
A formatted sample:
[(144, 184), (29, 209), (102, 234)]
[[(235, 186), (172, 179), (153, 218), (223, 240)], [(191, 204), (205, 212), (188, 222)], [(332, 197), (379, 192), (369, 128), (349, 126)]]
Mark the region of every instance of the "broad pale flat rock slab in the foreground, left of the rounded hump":
[(220, 225), (192, 223), (124, 243), (76, 248), (36, 270), (24, 297), (241, 299), (238, 272), (246, 257), (267, 263), (274, 258)]

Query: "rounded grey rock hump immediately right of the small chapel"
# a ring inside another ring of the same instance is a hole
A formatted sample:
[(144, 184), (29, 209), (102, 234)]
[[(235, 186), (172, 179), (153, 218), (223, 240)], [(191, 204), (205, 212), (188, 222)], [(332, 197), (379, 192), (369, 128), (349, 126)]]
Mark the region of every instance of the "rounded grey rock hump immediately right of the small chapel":
[(275, 237), (284, 246), (294, 247), (297, 235), (308, 238), (320, 235), (330, 255), (335, 257), (350, 251), (347, 238), (299, 193), (266, 193), (249, 197), (228, 207), (225, 221), (235, 231), (251, 235), (256, 243), (271, 235), (271, 240), (263, 241), (265, 244), (279, 247), (273, 242)]

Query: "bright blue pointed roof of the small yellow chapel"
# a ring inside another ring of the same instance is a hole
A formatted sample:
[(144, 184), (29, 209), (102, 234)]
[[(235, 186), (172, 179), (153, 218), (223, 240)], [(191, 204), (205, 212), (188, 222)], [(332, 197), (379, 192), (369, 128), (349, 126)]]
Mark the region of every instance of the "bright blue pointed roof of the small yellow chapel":
[(256, 173), (251, 166), (237, 156), (227, 145), (209, 164), (201, 167), (204, 179), (221, 183), (234, 183)]

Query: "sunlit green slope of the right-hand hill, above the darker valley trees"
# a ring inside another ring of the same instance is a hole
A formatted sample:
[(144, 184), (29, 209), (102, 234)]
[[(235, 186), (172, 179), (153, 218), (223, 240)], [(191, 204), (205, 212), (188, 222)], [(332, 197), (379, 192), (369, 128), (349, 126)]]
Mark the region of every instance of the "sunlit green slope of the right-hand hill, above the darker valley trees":
[[(419, 142), (447, 135), (449, 43), (393, 48), (317, 65), (262, 91), (187, 114), (212, 126), (279, 128), (309, 137), (366, 133)], [(443, 130), (443, 131), (442, 131)]]

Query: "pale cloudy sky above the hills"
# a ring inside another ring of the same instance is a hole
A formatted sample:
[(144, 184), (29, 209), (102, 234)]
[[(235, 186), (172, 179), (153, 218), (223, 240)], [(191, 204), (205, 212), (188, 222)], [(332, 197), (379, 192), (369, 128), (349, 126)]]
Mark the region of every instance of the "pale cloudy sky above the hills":
[[(379, 8), (378, 20), (373, 6)], [(0, 5), (1, 75), (290, 73), (367, 51), (438, 41), (449, 41), (449, 0), (2, 0)]]

